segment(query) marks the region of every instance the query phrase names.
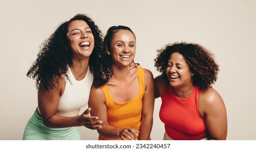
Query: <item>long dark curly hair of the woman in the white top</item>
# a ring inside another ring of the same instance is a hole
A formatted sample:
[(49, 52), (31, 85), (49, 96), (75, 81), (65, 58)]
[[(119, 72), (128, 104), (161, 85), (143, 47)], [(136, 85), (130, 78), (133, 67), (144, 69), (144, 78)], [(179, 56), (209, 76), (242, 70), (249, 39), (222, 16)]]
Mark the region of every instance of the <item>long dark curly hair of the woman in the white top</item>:
[(73, 65), (73, 51), (68, 39), (68, 26), (73, 20), (84, 20), (92, 30), (94, 36), (94, 49), (89, 57), (89, 70), (94, 79), (102, 77), (99, 67), (101, 65), (103, 33), (93, 20), (86, 15), (77, 14), (69, 21), (62, 23), (59, 28), (41, 45), (37, 59), (30, 67), (27, 76), (36, 80), (36, 88), (42, 86), (49, 91), (59, 86), (59, 80), (63, 80), (61, 74), (67, 77), (68, 67)]

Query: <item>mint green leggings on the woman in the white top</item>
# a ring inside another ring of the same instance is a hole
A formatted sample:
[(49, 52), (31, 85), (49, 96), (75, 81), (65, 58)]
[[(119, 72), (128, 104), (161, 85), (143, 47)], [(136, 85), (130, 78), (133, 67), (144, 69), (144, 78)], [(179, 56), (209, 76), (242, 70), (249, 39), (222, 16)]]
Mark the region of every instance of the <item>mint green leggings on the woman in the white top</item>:
[(23, 140), (81, 140), (78, 127), (49, 128), (35, 112), (29, 119)]

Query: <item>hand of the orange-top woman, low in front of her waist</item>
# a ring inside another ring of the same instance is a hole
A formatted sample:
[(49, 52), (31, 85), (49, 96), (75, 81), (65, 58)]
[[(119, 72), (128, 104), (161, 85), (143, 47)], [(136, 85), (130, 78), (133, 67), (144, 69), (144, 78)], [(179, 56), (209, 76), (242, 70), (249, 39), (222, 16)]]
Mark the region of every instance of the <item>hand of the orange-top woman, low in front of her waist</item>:
[(126, 138), (129, 140), (138, 140), (137, 138), (139, 136), (139, 131), (137, 129), (127, 127), (122, 129), (118, 135), (120, 136), (121, 140), (126, 140)]

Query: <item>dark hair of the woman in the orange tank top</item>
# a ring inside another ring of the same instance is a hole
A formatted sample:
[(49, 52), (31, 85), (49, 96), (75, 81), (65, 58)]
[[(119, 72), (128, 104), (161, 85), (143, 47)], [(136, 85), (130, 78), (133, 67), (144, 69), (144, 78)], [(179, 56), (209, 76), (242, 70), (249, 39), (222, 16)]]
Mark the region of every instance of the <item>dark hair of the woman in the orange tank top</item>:
[[(103, 72), (104, 74), (104, 78), (101, 78), (99, 80), (95, 80), (95, 86), (103, 86), (104, 84), (106, 84), (113, 75), (113, 68), (112, 68), (112, 59), (111, 56), (108, 55), (106, 52), (106, 50), (108, 49), (110, 52), (111, 50), (111, 40), (113, 39), (114, 35), (117, 33), (117, 31), (119, 30), (128, 30), (131, 31), (133, 36), (135, 36), (135, 34), (133, 33), (133, 31), (127, 27), (127, 26), (111, 26), (106, 33), (106, 36), (104, 37), (103, 40), (103, 54), (102, 54), (102, 66), (101, 66), (101, 72)], [(136, 39), (136, 36), (135, 36)]]

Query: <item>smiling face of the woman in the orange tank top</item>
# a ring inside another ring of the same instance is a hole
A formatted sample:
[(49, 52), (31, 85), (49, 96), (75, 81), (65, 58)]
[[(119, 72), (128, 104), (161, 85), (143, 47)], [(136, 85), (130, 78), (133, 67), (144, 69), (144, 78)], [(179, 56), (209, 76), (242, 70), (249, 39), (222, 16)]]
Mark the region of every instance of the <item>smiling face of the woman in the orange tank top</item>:
[(113, 65), (129, 66), (135, 58), (136, 39), (129, 30), (117, 31), (111, 40), (111, 54)]

